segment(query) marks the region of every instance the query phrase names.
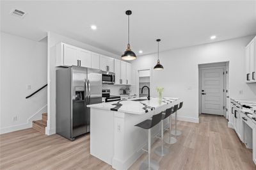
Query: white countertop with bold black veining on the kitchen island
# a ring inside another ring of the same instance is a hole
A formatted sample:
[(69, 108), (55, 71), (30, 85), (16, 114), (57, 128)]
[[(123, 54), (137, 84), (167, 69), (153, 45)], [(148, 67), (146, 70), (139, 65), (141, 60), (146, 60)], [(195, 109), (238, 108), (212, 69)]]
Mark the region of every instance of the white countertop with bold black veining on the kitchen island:
[(92, 104), (88, 105), (87, 107), (131, 114), (145, 114), (148, 111), (153, 111), (158, 107), (163, 107), (164, 105), (170, 104), (177, 100), (179, 100), (179, 98), (163, 97), (162, 101), (159, 102), (158, 97), (150, 97), (150, 100), (147, 100), (147, 97), (141, 97), (132, 98), (131, 100), (119, 100), (116, 102)]

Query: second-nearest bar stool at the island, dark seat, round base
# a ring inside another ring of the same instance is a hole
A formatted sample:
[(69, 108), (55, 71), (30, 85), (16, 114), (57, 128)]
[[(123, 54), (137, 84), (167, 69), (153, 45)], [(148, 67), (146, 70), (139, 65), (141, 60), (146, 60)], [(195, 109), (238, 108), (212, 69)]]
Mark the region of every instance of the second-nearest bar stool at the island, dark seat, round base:
[(162, 115), (161, 120), (161, 146), (158, 146), (154, 151), (156, 155), (163, 157), (167, 153), (169, 153), (169, 148), (164, 147), (163, 139), (164, 139), (164, 120), (168, 118), (173, 113), (173, 107), (166, 109), (165, 114)]

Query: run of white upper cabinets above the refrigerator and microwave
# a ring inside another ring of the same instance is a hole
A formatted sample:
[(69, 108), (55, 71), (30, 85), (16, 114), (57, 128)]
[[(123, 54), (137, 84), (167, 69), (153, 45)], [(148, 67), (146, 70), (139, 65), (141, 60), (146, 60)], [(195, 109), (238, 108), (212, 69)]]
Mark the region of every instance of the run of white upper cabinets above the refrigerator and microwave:
[(56, 66), (72, 65), (115, 72), (115, 84), (131, 85), (132, 69), (130, 63), (68, 45), (67, 43), (58, 43), (56, 45)]

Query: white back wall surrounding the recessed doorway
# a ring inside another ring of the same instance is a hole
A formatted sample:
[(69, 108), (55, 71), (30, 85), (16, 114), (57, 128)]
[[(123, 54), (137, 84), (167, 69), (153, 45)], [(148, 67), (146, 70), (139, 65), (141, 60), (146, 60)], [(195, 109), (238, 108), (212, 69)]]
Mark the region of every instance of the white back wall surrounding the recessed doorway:
[[(256, 84), (245, 83), (244, 64), (244, 47), (252, 38), (253, 36), (246, 36), (161, 52), (159, 58), (164, 70), (152, 71), (150, 91), (152, 96), (157, 96), (156, 86), (163, 86), (165, 97), (179, 97), (184, 101), (179, 119), (196, 122), (198, 121), (198, 64), (230, 61), (230, 97), (255, 100)], [(164, 43), (164, 40), (161, 43)], [(153, 68), (156, 62), (157, 54), (138, 57), (132, 61), (133, 75), (136, 75), (136, 70), (141, 68)], [(243, 94), (239, 94), (241, 90)]]

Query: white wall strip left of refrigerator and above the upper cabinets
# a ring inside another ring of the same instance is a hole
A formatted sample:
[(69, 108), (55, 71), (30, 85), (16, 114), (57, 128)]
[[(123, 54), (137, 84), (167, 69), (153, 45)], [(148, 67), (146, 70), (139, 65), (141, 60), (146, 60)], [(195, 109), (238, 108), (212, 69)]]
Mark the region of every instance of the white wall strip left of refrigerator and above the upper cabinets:
[(93, 52), (97, 52), (99, 54), (103, 54), (105, 56), (109, 56), (111, 58), (120, 59), (120, 56), (116, 54), (112, 54), (105, 50), (98, 49), (97, 47), (92, 47), (86, 43), (78, 42), (72, 38), (68, 38), (66, 36), (58, 35), (56, 33), (49, 32), (48, 33), (48, 73), (47, 73), (47, 112), (48, 112), (48, 120), (47, 120), (47, 128), (45, 130), (46, 134), (51, 135), (56, 133), (56, 44), (60, 42), (68, 43), (70, 45), (74, 45), (76, 47), (81, 47), (82, 49), (91, 50)]

